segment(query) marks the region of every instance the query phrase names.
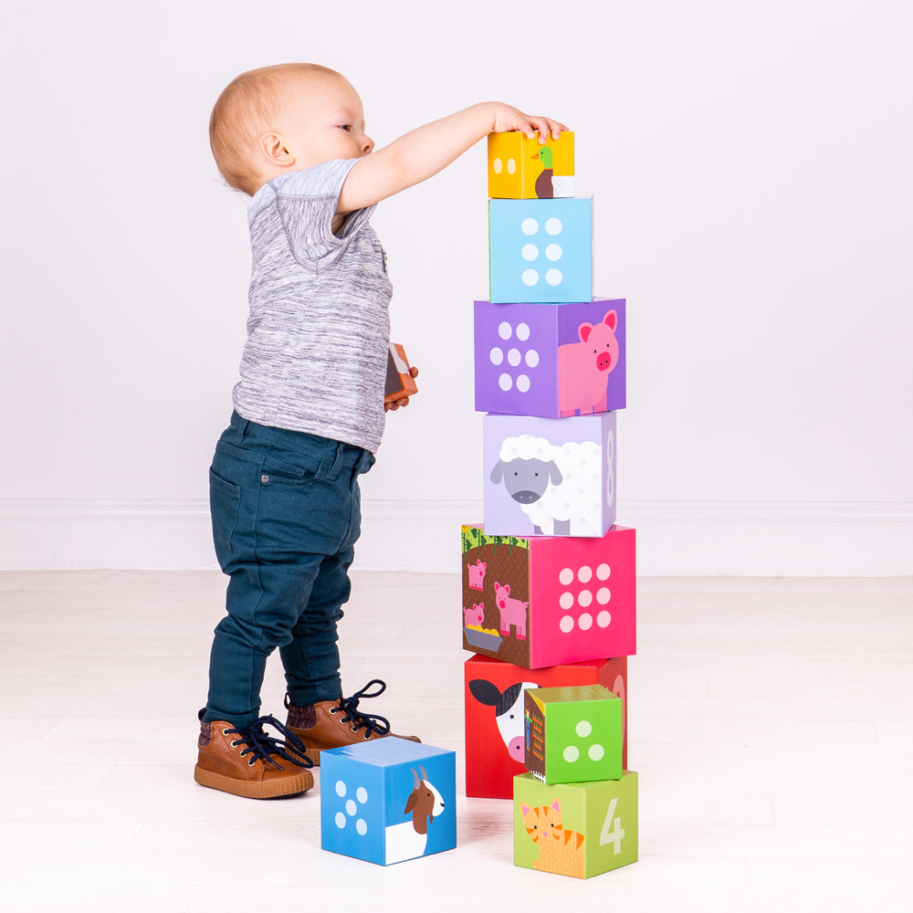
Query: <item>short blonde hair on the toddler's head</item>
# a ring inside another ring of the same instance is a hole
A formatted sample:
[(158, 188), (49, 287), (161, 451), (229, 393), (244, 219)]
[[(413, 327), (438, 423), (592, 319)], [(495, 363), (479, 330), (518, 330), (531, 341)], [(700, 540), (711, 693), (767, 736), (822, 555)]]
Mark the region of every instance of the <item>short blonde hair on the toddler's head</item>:
[(279, 110), (290, 79), (340, 73), (316, 63), (283, 63), (248, 70), (228, 83), (209, 118), (209, 145), (229, 187), (253, 196), (263, 184), (257, 171), (257, 141)]

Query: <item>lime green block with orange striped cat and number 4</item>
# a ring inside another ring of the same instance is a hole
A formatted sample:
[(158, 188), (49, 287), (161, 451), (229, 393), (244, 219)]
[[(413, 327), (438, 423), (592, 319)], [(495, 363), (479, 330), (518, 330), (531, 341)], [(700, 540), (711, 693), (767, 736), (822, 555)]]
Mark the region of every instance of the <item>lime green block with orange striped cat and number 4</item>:
[(543, 783), (514, 778), (514, 865), (575, 878), (637, 861), (637, 774)]

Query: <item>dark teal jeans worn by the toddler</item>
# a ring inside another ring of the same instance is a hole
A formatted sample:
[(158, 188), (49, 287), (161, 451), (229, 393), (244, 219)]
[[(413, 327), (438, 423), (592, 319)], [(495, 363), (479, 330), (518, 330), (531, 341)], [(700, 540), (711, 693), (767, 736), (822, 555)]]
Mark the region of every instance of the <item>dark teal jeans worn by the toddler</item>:
[(373, 462), (361, 447), (232, 415), (209, 470), (215, 554), (229, 581), (203, 719), (238, 729), (257, 719), (276, 648), (295, 704), (342, 697), (336, 626), (361, 531), (358, 477)]

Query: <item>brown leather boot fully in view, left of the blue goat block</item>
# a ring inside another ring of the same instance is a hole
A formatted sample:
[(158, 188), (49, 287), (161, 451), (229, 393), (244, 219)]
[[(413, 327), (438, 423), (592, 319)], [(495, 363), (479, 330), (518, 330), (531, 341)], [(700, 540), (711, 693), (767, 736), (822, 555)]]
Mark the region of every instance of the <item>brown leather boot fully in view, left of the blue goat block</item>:
[[(194, 768), (194, 780), (201, 786), (247, 799), (278, 799), (314, 785), (306, 769), (313, 763), (304, 745), (275, 717), (260, 717), (247, 729), (235, 729), (224, 719), (204, 722), (203, 713), (200, 710), (200, 757)], [(278, 729), (285, 741), (269, 737), (265, 724)]]

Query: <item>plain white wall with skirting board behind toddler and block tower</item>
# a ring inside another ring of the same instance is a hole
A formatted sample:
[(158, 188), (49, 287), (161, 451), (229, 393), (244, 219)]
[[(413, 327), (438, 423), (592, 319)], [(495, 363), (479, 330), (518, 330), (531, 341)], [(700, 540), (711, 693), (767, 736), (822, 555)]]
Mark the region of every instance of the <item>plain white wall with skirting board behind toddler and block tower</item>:
[[(6, 10), (0, 567), (214, 563), (206, 468), (248, 252), (206, 122), (242, 69), (312, 59), (352, 80), (382, 145), (488, 98), (576, 131), (595, 289), (629, 301), (619, 521), (643, 572), (913, 572), (907, 9)], [(481, 517), (484, 144), (374, 225), (422, 373), (365, 479), (359, 561), (456, 570), (458, 524)]]

